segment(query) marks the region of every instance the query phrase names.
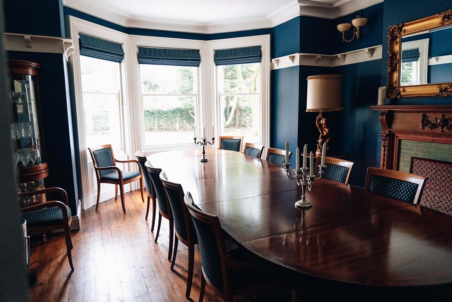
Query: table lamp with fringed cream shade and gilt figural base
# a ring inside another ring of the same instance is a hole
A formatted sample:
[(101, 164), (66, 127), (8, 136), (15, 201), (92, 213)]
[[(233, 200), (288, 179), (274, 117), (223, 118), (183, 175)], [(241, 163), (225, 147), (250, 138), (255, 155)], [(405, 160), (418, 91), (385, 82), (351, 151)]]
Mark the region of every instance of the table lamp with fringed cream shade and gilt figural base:
[(315, 154), (322, 155), (323, 144), (326, 143), (328, 152), (331, 138), (328, 119), (322, 116), (322, 112), (342, 110), (342, 75), (308, 76), (307, 81), (306, 111), (319, 113), (315, 125), (320, 137)]

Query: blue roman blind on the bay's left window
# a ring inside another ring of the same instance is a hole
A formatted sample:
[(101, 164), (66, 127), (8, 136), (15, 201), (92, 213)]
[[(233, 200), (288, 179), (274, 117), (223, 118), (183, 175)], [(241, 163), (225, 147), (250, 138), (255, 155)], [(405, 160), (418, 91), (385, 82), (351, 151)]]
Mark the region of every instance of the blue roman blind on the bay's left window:
[(124, 51), (119, 43), (94, 38), (79, 33), (80, 55), (121, 63)]

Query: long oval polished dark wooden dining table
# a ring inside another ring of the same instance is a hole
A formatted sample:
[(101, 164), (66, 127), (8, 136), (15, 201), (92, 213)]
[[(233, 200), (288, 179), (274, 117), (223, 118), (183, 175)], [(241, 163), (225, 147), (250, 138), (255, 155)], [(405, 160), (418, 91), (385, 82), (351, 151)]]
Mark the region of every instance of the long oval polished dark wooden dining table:
[(283, 167), (234, 151), (201, 156), (189, 149), (148, 160), (302, 296), (452, 300), (451, 217), (328, 179), (306, 193), (312, 208), (299, 209), (301, 188)]

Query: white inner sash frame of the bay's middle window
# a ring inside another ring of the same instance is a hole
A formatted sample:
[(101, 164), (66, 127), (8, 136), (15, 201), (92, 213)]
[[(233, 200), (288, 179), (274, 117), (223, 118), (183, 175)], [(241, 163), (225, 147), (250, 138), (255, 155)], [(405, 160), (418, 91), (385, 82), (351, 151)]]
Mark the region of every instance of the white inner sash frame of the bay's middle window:
[[(138, 64), (138, 73), (140, 74), (140, 64)], [(141, 127), (141, 129), (144, 129), (144, 100), (143, 100), (143, 96), (193, 96), (194, 98), (194, 111), (195, 111), (195, 126), (197, 127), (197, 129), (199, 129), (199, 123), (198, 123), (198, 112), (199, 112), (199, 108), (201, 107), (200, 104), (200, 98), (199, 98), (199, 88), (200, 88), (200, 75), (199, 75), (199, 67), (195, 68), (195, 77), (193, 77), (193, 92), (194, 94), (158, 94), (158, 93), (151, 93), (151, 94), (143, 94), (142, 91), (142, 87), (141, 87), (141, 74), (139, 75), (139, 79), (140, 79), (140, 101), (141, 101), (141, 105), (143, 106), (143, 111), (141, 112), (141, 119), (142, 119), (142, 125), (143, 127)], [(179, 143), (179, 142), (174, 142), (174, 143), (170, 143), (170, 144), (152, 144), (152, 145), (146, 145), (146, 138), (145, 138), (145, 131), (141, 131), (141, 141), (143, 142), (142, 145), (142, 149), (145, 151), (152, 151), (155, 149), (168, 149), (170, 148), (171, 150), (178, 150), (178, 149), (185, 149), (186, 147), (189, 147), (190, 149), (192, 148), (197, 148), (199, 146), (193, 146), (193, 142), (186, 142), (186, 143)]]

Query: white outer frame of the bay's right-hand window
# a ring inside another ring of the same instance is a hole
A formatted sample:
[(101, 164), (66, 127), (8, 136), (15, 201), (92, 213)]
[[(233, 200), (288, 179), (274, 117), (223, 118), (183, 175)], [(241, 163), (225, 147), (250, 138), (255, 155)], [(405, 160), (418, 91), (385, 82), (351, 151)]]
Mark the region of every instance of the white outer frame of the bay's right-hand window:
[[(218, 68), (213, 61), (215, 50), (220, 49), (229, 49), (229, 48), (240, 48), (240, 47), (252, 47), (252, 46), (260, 46), (262, 53), (262, 60), (259, 69), (259, 89), (260, 89), (260, 108), (261, 108), (261, 117), (260, 117), (260, 144), (266, 146), (267, 148), (270, 146), (270, 35), (260, 35), (260, 36), (252, 36), (252, 37), (241, 37), (241, 38), (230, 38), (230, 39), (220, 39), (220, 40), (211, 40), (207, 41), (207, 51), (208, 57), (210, 58), (210, 62), (212, 63), (210, 73), (212, 74), (211, 81), (215, 83), (211, 85), (212, 92), (215, 95), (215, 109), (212, 111), (214, 120), (212, 124), (214, 124), (215, 129), (220, 129), (221, 120), (220, 115), (218, 114), (221, 109), (221, 99), (218, 86)], [(202, 59), (202, 58), (201, 58)], [(206, 126), (207, 127), (207, 126)], [(217, 131), (219, 132), (219, 131)], [(219, 139), (220, 133), (216, 133), (216, 139)], [(265, 158), (267, 154), (267, 150), (264, 149), (262, 157)]]

